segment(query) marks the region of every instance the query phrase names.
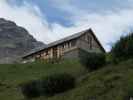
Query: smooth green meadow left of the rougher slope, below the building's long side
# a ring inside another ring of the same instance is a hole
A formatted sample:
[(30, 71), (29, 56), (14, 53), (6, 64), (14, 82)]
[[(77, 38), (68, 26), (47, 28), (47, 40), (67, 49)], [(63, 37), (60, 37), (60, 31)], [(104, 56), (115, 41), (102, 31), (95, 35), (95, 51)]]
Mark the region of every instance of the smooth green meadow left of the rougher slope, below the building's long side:
[(22, 100), (23, 96), (18, 89), (18, 84), (55, 73), (69, 73), (74, 77), (80, 77), (86, 73), (86, 70), (76, 60), (64, 61), (60, 64), (37, 62), (0, 65), (0, 100)]

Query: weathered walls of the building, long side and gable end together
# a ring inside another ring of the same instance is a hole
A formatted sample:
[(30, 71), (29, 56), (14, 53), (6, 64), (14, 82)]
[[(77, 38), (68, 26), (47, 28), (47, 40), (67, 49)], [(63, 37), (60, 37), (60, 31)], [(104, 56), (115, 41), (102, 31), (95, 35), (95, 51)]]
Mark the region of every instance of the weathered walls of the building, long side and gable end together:
[(62, 57), (78, 58), (79, 49), (83, 49), (88, 52), (103, 52), (96, 41), (95, 36), (90, 32), (86, 32), (76, 39), (65, 41), (56, 46), (37, 52), (27, 59), (29, 61), (34, 61), (36, 59), (48, 60)]

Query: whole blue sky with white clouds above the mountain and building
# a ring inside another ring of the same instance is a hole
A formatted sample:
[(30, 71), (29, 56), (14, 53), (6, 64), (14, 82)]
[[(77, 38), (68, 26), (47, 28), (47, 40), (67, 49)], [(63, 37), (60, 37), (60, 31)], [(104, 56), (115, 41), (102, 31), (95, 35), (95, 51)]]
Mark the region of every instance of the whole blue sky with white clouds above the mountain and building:
[(133, 0), (0, 0), (0, 17), (46, 44), (91, 28), (110, 51), (133, 30)]

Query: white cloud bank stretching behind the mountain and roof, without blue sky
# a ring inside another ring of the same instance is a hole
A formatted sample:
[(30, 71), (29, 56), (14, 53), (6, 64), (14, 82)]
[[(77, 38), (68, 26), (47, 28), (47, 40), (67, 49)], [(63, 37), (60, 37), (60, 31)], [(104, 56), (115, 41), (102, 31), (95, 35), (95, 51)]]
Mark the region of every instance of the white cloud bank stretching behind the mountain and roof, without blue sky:
[[(24, 3), (24, 6), (12, 7), (5, 0), (0, 0), (0, 17), (24, 26), (37, 40), (45, 43), (91, 27), (107, 51), (110, 50), (109, 43), (115, 42), (123, 32), (129, 31), (129, 28), (133, 26), (131, 4), (129, 4), (129, 8), (117, 11), (105, 10), (104, 13), (88, 13), (88, 9), (79, 9), (70, 1), (53, 0), (53, 6), (72, 15), (69, 19), (74, 26), (71, 27), (64, 27), (58, 23), (48, 23), (45, 14), (42, 18), (40, 9), (27, 2)], [(129, 1), (131, 2), (131, 0)]]

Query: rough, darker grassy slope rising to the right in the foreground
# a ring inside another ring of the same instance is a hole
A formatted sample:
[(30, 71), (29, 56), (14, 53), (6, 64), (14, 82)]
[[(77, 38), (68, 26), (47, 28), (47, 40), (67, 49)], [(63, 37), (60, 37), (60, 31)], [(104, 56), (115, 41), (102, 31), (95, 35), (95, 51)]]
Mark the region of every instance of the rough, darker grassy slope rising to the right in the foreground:
[(45, 100), (128, 100), (125, 97), (129, 91), (133, 91), (133, 60), (89, 73), (72, 91)]

